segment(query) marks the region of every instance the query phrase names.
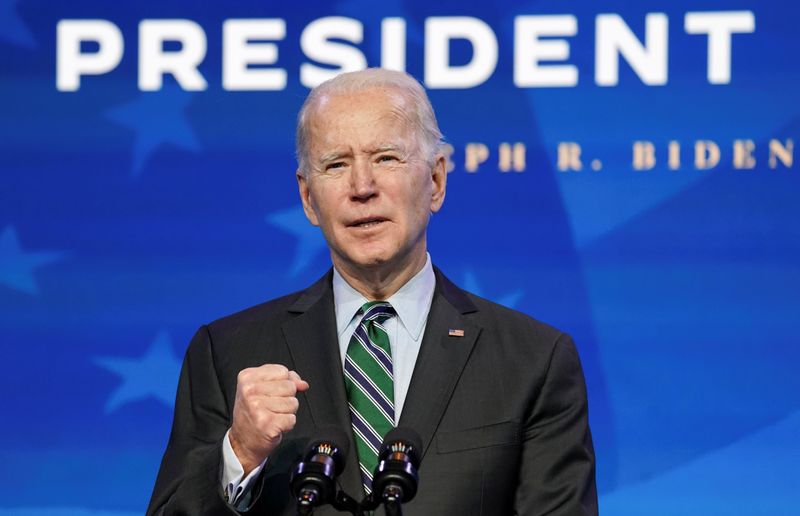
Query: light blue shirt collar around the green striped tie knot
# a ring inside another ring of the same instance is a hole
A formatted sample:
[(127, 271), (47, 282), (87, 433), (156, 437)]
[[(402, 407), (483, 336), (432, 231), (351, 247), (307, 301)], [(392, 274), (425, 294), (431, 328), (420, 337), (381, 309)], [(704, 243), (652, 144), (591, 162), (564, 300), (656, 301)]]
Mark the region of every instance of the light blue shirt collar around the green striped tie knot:
[[(414, 340), (419, 340), (422, 328), (425, 326), (435, 287), (436, 276), (433, 273), (431, 256), (426, 253), (425, 265), (422, 270), (386, 300), (394, 307), (400, 324), (405, 327)], [(336, 331), (340, 337), (350, 325), (358, 309), (366, 302), (367, 298), (351, 287), (334, 267), (333, 303), (336, 309)]]

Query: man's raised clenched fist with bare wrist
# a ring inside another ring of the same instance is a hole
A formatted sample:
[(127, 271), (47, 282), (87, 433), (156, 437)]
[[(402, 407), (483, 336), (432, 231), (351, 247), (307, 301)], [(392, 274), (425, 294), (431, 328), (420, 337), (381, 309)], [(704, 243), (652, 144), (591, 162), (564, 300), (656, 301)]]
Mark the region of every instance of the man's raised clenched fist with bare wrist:
[(297, 393), (306, 390), (308, 383), (282, 365), (264, 364), (239, 372), (229, 437), (245, 476), (294, 428)]

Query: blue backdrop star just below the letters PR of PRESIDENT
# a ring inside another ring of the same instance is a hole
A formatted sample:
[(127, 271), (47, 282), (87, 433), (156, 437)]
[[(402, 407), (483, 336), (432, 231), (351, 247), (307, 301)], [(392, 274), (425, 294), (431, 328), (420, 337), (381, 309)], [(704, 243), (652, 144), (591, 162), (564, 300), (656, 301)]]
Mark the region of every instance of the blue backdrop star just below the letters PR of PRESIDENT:
[(160, 91), (143, 92), (141, 96), (107, 112), (106, 116), (135, 133), (132, 174), (141, 174), (144, 164), (161, 146), (172, 144), (197, 152), (200, 144), (186, 120), (186, 109), (192, 94), (177, 86), (164, 86)]

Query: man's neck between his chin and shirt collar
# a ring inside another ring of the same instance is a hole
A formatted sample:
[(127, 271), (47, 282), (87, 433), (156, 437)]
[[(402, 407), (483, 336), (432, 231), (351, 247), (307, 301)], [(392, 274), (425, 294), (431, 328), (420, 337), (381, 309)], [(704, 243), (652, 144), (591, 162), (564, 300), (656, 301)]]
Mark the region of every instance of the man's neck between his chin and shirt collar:
[(342, 278), (369, 301), (385, 301), (392, 297), (425, 267), (426, 262), (425, 249), (401, 266), (387, 263), (362, 268), (352, 264), (339, 263), (339, 260), (336, 259), (333, 260), (336, 270), (342, 275)]

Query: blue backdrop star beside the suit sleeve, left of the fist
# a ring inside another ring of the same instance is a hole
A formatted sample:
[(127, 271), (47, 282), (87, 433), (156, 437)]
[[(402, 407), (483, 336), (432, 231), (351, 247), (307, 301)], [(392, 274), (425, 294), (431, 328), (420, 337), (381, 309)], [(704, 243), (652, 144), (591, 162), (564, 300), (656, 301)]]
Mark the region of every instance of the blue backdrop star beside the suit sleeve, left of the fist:
[(94, 363), (122, 379), (122, 384), (106, 402), (107, 414), (127, 403), (149, 398), (169, 407), (175, 404), (175, 385), (181, 362), (175, 356), (167, 332), (159, 332), (147, 352), (139, 358), (95, 357)]

